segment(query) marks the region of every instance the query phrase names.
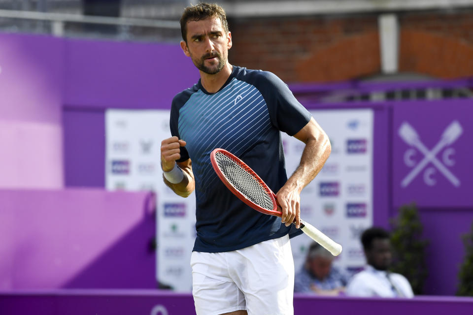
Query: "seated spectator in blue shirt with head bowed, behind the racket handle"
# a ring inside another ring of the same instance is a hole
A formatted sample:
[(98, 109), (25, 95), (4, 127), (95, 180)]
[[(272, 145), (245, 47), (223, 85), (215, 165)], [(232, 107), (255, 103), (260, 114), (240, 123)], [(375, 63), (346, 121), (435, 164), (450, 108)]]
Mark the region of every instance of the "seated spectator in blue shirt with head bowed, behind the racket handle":
[(314, 242), (307, 252), (306, 261), (295, 276), (294, 292), (338, 295), (345, 290), (348, 277), (332, 266), (334, 256)]

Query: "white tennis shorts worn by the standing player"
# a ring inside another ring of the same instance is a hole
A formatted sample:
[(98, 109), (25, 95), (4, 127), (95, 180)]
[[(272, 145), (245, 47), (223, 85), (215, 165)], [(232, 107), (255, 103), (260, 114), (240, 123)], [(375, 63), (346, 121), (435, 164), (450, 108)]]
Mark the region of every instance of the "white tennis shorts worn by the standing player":
[(197, 315), (294, 314), (288, 235), (233, 252), (192, 252), (191, 267)]

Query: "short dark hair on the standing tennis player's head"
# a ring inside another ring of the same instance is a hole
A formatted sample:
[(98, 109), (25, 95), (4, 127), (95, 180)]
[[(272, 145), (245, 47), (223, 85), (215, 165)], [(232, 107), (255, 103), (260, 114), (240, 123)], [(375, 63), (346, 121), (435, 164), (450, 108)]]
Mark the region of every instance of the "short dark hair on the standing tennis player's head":
[(187, 22), (200, 21), (210, 17), (219, 18), (225, 33), (228, 33), (227, 14), (225, 10), (218, 4), (199, 3), (186, 7), (184, 13), (182, 13), (181, 19), (179, 20), (181, 23), (182, 39), (187, 43)]

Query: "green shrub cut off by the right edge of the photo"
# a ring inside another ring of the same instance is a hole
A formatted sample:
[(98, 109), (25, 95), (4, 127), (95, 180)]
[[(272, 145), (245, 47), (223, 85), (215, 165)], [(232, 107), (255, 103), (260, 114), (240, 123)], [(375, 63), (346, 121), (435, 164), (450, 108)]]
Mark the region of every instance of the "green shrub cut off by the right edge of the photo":
[(460, 267), (458, 278), (457, 295), (473, 296), (473, 225), (470, 233), (463, 235), (463, 244), (465, 245), (465, 258)]

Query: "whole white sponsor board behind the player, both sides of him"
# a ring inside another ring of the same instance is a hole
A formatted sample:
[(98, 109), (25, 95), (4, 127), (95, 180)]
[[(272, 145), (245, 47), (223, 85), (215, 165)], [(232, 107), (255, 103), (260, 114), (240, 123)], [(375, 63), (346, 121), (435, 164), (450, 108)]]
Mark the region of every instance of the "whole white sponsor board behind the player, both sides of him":
[[(364, 264), (359, 234), (372, 226), (372, 110), (311, 111), (327, 132), (332, 154), (301, 194), (305, 221), (343, 246), (335, 263)], [(157, 264), (160, 282), (190, 291), (190, 255), (194, 246), (195, 196), (182, 198), (162, 180), (161, 141), (170, 136), (169, 110), (107, 110), (105, 182), (110, 190), (154, 190), (157, 194)], [(283, 133), (286, 168), (292, 174), (304, 143)], [(291, 240), (296, 272), (311, 240)]]

